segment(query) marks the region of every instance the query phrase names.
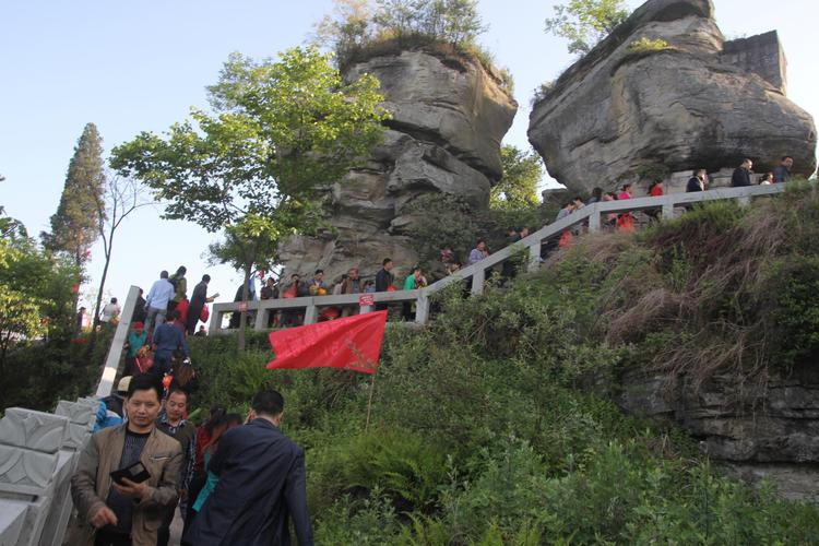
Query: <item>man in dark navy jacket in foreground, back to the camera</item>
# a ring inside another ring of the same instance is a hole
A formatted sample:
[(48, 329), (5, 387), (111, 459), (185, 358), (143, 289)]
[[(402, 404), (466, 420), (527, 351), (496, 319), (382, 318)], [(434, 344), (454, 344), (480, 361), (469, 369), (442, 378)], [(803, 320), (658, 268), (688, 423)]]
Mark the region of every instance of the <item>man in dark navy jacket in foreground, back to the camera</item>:
[(218, 483), (182, 538), (185, 545), (288, 545), (288, 518), (298, 544), (313, 544), (305, 452), (278, 429), (284, 399), (261, 391), (251, 407), (250, 424), (219, 440), (209, 466)]

